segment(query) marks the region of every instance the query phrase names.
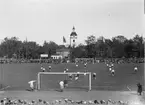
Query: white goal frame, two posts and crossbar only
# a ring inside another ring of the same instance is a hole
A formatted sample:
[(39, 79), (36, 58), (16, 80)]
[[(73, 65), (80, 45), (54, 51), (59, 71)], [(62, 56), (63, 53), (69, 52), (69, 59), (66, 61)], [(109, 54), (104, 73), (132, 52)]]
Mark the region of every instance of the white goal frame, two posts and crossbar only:
[(40, 75), (42, 74), (88, 74), (89, 75), (89, 91), (91, 90), (91, 72), (39, 72), (37, 75), (37, 89), (40, 90)]

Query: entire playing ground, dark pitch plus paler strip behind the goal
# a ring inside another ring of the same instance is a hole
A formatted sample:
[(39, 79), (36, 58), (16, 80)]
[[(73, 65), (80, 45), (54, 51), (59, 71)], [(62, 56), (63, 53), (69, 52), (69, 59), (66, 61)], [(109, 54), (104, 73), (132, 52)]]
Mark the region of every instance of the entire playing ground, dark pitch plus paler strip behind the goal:
[[(72, 72), (84, 71), (83, 65), (79, 65), (79, 67), (76, 68), (75, 64), (43, 64), (45, 68), (48, 68), (49, 65), (52, 66), (52, 71), (54, 72), (64, 71), (65, 67)], [(134, 66), (138, 66), (139, 68), (137, 74), (133, 73)], [(141, 84), (144, 83), (144, 64), (115, 64), (114, 68), (116, 70), (116, 75), (114, 77), (110, 76), (108, 68), (105, 64), (88, 64), (87, 70), (89, 72), (97, 73), (97, 79), (92, 80), (93, 90), (89, 92), (76, 91), (76, 87), (79, 90), (83, 90), (83, 86), (88, 86), (88, 79), (85, 79), (83, 76), (80, 79), (81, 82), (70, 84), (72, 87), (74, 87), (71, 91), (65, 90), (63, 93), (57, 91), (47, 91), (49, 88), (58, 88), (58, 84), (55, 83), (55, 81), (64, 79), (64, 76), (62, 75), (42, 76), (41, 85), (43, 91), (26, 91), (26, 89), (29, 88), (28, 81), (35, 80), (37, 78), (38, 72), (41, 71), (40, 67), (40, 64), (1, 64), (0, 81), (3, 84), (3, 87), (10, 87), (5, 91), (0, 91), (0, 99), (5, 97), (11, 97), (13, 99), (25, 99), (30, 101), (38, 99), (54, 101), (63, 98), (69, 98), (72, 100), (97, 99), (106, 101), (108, 99), (112, 99), (114, 101), (128, 101), (130, 102), (129, 105), (145, 105), (145, 94), (138, 96), (136, 93), (137, 82), (140, 82)], [(128, 91), (126, 85), (129, 85), (132, 91)], [(63, 103), (60, 105), (68, 104)]]

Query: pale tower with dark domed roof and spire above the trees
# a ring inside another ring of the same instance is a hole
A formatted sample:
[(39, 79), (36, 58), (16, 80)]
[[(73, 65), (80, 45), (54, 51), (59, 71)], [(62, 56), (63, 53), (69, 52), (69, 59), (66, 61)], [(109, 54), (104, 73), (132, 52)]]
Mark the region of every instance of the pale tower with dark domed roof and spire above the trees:
[(72, 33), (70, 34), (70, 47), (76, 46), (76, 39), (77, 39), (77, 33), (75, 32), (75, 27), (73, 27)]

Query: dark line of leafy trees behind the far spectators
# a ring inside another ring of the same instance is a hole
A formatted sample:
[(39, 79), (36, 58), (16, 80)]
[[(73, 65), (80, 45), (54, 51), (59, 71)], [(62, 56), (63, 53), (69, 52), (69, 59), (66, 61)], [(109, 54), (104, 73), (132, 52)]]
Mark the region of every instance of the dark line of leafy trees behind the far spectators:
[(90, 35), (84, 44), (75, 48), (58, 45), (53, 41), (44, 41), (43, 45), (34, 41), (20, 41), (17, 37), (4, 38), (0, 44), (0, 57), (38, 59), (40, 54), (48, 54), (51, 57), (56, 49), (71, 49), (71, 58), (130, 58), (144, 57), (144, 38), (135, 35), (132, 39), (119, 35), (112, 39), (105, 39)]

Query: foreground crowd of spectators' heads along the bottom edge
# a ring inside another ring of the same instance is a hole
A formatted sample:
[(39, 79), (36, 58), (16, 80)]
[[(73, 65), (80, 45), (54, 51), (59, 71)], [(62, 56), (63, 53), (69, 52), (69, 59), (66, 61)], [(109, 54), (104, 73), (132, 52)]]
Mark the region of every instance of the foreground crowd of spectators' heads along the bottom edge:
[[(112, 101), (111, 99), (105, 100), (71, 100), (71, 99), (59, 99), (53, 101), (46, 101), (42, 99), (38, 100), (22, 100), (13, 98), (4, 98), (0, 101), (0, 105), (131, 105), (130, 102)], [(133, 102), (132, 102), (132, 105)]]

